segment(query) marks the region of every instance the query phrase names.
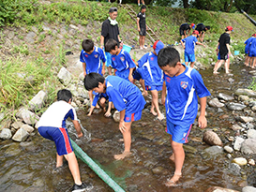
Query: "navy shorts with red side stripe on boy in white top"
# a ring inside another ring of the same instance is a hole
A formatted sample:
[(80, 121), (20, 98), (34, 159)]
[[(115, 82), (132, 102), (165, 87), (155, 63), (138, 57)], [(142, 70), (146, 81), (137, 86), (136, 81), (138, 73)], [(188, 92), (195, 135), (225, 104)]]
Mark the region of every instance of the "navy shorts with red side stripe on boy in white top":
[(39, 126), (38, 132), (42, 137), (55, 142), (58, 155), (68, 155), (73, 152), (67, 128)]

